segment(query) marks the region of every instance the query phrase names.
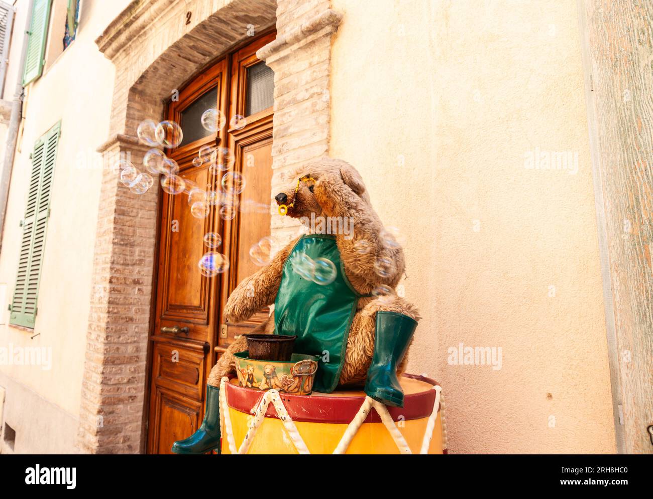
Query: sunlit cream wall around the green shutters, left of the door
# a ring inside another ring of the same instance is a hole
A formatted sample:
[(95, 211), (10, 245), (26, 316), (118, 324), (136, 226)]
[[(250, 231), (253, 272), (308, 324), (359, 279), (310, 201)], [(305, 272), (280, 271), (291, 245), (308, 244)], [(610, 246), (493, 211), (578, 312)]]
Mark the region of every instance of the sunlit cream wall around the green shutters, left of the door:
[[(24, 26), (26, 1), (18, 3), (10, 70), (5, 96), (11, 98)], [(65, 2), (64, 2), (65, 3)], [(44, 75), (27, 89), (24, 130), (20, 137), (8, 199), (7, 219), (0, 257), (0, 283), (7, 283), (0, 303), (3, 325), (0, 345), (46, 347), (52, 350), (52, 369), (27, 365), (0, 365), (0, 374), (32, 389), (61, 410), (78, 416), (88, 330), (93, 245), (101, 187), (101, 162), (97, 147), (108, 137), (109, 113), (114, 88), (114, 67), (97, 50), (95, 38), (109, 20), (129, 3), (85, 1), (77, 39)], [(20, 29), (19, 29), (20, 27)], [(9, 92), (10, 90), (10, 92)], [(29, 154), (35, 141), (61, 120), (62, 134), (54, 174), (46, 252), (39, 286), (39, 312), (34, 333), (8, 326), (7, 305), (13, 294), (16, 265), (31, 172)], [(37, 334), (34, 339), (31, 335)], [(7, 393), (6, 404), (14, 401)], [(23, 406), (24, 412), (29, 408)], [(14, 422), (14, 424), (18, 424)], [(17, 431), (17, 439), (20, 438)], [(18, 449), (17, 449), (18, 451)]]

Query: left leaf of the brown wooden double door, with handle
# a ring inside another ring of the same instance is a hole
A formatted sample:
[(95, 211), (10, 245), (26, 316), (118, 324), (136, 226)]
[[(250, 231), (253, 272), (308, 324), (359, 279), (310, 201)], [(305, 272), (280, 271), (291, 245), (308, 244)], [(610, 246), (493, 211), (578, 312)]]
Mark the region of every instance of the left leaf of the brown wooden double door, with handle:
[[(217, 101), (213, 106), (226, 112), (226, 80), (227, 59), (223, 59), (180, 92), (179, 101), (170, 103), (168, 119), (183, 122), (183, 113), (193, 104), (201, 101), (200, 106), (206, 105), (206, 95), (214, 95)], [(202, 145), (222, 140), (226, 140), (225, 130), (166, 152), (178, 162), (183, 179), (205, 188), (214, 181), (213, 175), (208, 164), (193, 166), (193, 157)], [(186, 192), (174, 196), (161, 192), (157, 299), (150, 337), (150, 453), (169, 453), (172, 442), (192, 434), (203, 415), (206, 376), (213, 364), (219, 290), (217, 280), (203, 276), (197, 263), (205, 250), (204, 234), (219, 230), (216, 219), (214, 211), (206, 219), (193, 217)]]

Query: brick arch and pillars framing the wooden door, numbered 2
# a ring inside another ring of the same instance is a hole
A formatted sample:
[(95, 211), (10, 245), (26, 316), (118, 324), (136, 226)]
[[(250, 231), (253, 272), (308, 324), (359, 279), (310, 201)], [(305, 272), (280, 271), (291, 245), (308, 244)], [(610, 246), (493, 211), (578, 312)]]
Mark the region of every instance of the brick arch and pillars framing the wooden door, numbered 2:
[[(192, 12), (189, 25), (186, 12)], [(331, 42), (341, 19), (330, 0), (133, 0), (97, 38), (116, 66), (116, 82), (110, 138), (98, 149), (105, 168), (80, 451), (138, 453), (147, 433), (143, 416), (159, 184), (136, 196), (110, 165), (120, 153), (142, 162), (146, 147), (135, 137), (138, 123), (162, 117), (172, 89), (244, 40), (247, 25), (263, 31), (275, 22), (276, 40), (257, 52), (274, 70), (272, 168), (283, 173), (328, 154)], [(273, 177), (271, 192), (279, 189), (280, 178)], [(284, 230), (273, 227), (279, 234)]]

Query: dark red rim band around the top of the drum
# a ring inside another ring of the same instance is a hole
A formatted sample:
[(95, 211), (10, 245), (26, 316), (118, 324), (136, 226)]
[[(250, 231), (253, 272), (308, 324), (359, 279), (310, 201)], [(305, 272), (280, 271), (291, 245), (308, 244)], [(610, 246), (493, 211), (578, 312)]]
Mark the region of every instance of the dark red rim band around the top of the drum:
[[(404, 399), (404, 407), (387, 406), (388, 412), (393, 421), (408, 421), (411, 419), (422, 419), (431, 415), (433, 404), (436, 401), (436, 391), (432, 386), (439, 383), (426, 376), (404, 373), (405, 378), (428, 383), (430, 387), (417, 393), (409, 393)], [(246, 414), (259, 403), (263, 392), (252, 388), (225, 384), (225, 395), (227, 405), (232, 409)], [(364, 400), (362, 395), (339, 395), (338, 397), (321, 397), (311, 395), (292, 395), (280, 393), (281, 401), (288, 411), (288, 416), (293, 421), (304, 421), (307, 423), (335, 423), (349, 424), (358, 414)], [(438, 411), (440, 410), (438, 406)], [(279, 419), (273, 404), (268, 406), (265, 417)], [(365, 423), (381, 423), (381, 417), (374, 411), (370, 411)]]

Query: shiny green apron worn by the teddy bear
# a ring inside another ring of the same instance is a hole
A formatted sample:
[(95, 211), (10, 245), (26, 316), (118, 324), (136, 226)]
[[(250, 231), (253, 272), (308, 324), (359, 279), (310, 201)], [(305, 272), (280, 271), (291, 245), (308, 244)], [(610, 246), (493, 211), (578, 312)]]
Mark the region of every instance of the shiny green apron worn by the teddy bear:
[[(293, 271), (291, 259), (305, 253), (313, 260), (327, 258), (336, 265), (336, 279), (325, 286)], [(289, 254), (274, 301), (274, 334), (297, 335), (294, 351), (321, 357), (313, 390), (336, 389), (345, 360), (349, 327), (359, 295), (345, 276), (335, 235), (302, 236)]]

